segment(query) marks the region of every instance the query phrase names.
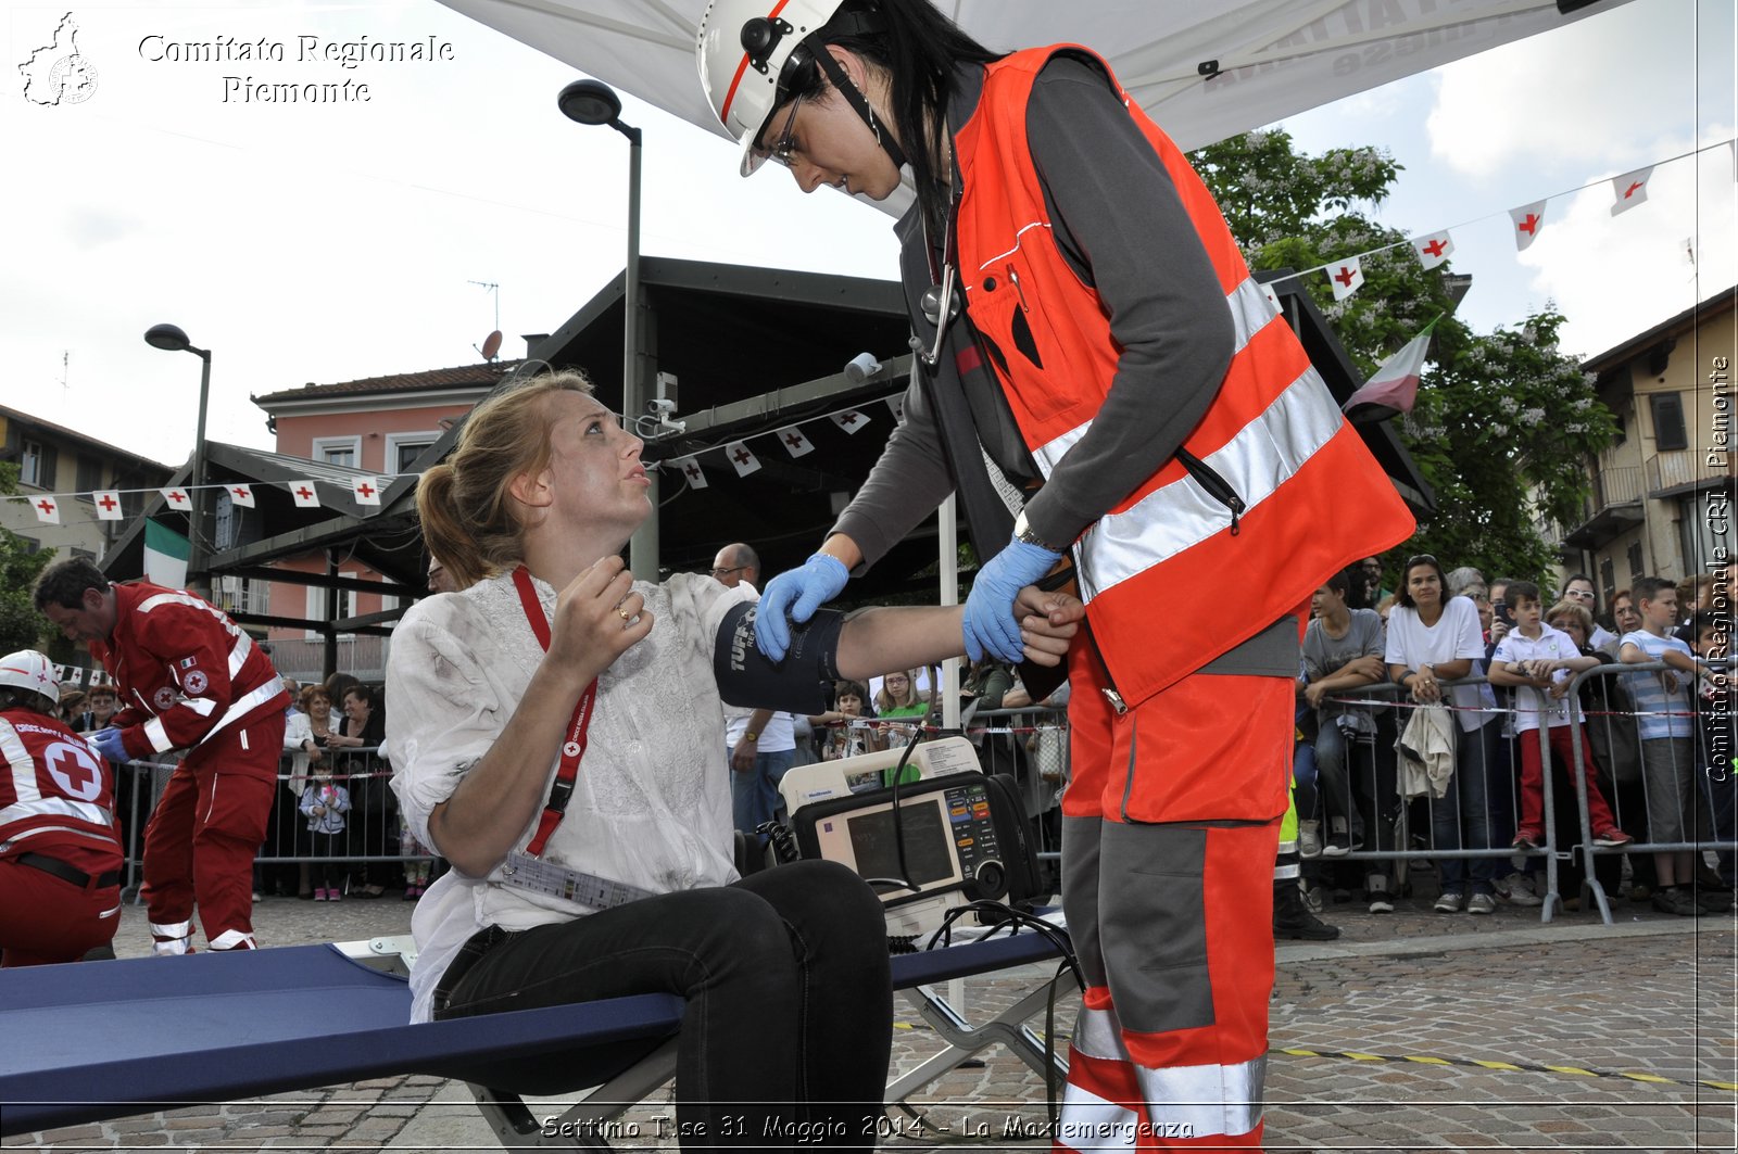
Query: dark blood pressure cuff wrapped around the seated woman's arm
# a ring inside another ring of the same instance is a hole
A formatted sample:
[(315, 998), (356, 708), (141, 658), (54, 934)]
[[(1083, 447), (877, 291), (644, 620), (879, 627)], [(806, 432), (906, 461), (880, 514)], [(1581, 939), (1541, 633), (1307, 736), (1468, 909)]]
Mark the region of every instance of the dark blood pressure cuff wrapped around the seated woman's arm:
[(725, 613), (713, 645), (713, 676), (718, 693), (730, 706), (815, 714), (827, 707), (827, 692), (839, 680), (834, 664), (845, 613), (815, 610), (808, 624), (791, 622), (791, 648), (773, 662), (754, 641), (753, 601), (742, 601)]

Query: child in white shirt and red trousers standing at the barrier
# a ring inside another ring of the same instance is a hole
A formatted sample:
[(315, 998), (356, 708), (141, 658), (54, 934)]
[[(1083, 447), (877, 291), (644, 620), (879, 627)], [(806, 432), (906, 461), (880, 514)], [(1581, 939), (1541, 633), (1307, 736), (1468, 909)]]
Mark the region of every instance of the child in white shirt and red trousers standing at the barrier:
[[(1545, 770), (1540, 754), (1536, 730), (1545, 726), (1552, 751), (1562, 758), (1569, 772), (1580, 770), (1587, 780), (1587, 815), (1594, 827), (1594, 845), (1622, 846), (1634, 841), (1618, 829), (1599, 791), (1597, 770), (1589, 756), (1587, 728), (1578, 700), (1568, 697), (1571, 674), (1594, 669), (1602, 662), (1597, 657), (1583, 657), (1575, 638), (1552, 629), (1540, 620), (1545, 605), (1540, 600), (1538, 586), (1531, 580), (1509, 584), (1509, 607), (1514, 610), (1516, 626), (1496, 643), (1491, 655), (1491, 685), (1507, 685), (1516, 690), (1516, 735), (1521, 746), (1521, 824), (1516, 827), (1514, 848), (1536, 850), (1545, 843)], [(1573, 730), (1580, 730), (1580, 766), (1576, 766), (1576, 749)], [(1568, 841), (1568, 839), (1564, 839)]]

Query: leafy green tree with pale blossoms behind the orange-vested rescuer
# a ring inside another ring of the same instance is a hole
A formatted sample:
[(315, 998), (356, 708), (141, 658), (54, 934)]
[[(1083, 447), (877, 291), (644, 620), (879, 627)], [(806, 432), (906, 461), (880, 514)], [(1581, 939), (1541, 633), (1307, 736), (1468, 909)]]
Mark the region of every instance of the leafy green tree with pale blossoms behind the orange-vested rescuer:
[(1404, 233), (1357, 210), (1380, 203), (1399, 179), (1403, 167), (1383, 149), (1309, 156), (1276, 129), (1210, 144), (1191, 160), (1251, 269), (1361, 257), (1364, 285), (1345, 301), (1333, 299), (1321, 273), (1302, 285), (1364, 375), (1443, 316), (1430, 342), (1434, 368), (1399, 426), (1437, 509), (1394, 554), (1432, 553), (1446, 568), (1476, 565), (1486, 577), (1543, 575), (1556, 549), (1535, 521), (1580, 520), (1585, 462), (1616, 434), (1592, 379), (1557, 348), (1564, 318), (1547, 309), (1489, 334), (1456, 320), (1449, 264), (1425, 271)]

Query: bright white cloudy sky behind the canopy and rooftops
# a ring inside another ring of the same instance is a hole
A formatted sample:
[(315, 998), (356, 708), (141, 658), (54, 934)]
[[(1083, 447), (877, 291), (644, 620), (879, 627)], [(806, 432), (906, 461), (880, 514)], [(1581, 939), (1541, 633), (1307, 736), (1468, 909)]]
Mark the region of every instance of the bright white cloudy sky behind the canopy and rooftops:
[[(10, 5), (5, 61), (28, 61), (66, 12)], [(198, 361), (141, 339), (174, 322), (214, 351), (210, 436), (271, 447), (249, 395), (474, 361), (497, 308), (516, 356), (520, 334), (556, 328), (620, 269), (626, 141), (556, 111), (567, 64), (433, 0), (71, 14), (90, 99), (31, 104), (10, 64), (0, 85), (9, 405), (182, 461)], [(370, 99), (328, 106), (240, 99), (222, 76), (249, 61), (153, 59), (217, 36), (294, 56), (304, 35), (434, 38), (452, 59), (337, 71)], [(1733, 76), (1729, 0), (1635, 0), (1286, 127), (1309, 149), (1392, 149), (1406, 172), (1378, 217), (1456, 226), (1474, 325), (1554, 302), (1568, 346), (1590, 355), (1738, 280), (1731, 151), (1663, 165), (1649, 203), (1620, 219), (1608, 184), (1557, 196), (1524, 254), (1507, 210), (1729, 139)], [(879, 212), (805, 198), (782, 172), (740, 181), (728, 144), (631, 97), (624, 118), (645, 132), (647, 254), (893, 275)]]

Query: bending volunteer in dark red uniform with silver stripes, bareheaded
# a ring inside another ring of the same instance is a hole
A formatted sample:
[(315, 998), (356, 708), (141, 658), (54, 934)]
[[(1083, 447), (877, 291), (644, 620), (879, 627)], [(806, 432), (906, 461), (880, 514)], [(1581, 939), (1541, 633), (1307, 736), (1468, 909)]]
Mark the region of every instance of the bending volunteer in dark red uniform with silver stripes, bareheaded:
[(90, 744), (116, 765), (186, 751), (144, 829), (156, 952), (191, 949), (195, 905), (210, 949), (254, 949), (254, 853), (266, 838), (289, 704), (271, 659), (191, 593), (111, 586), (82, 558), (43, 570), (35, 600), (120, 688), (122, 711)]

